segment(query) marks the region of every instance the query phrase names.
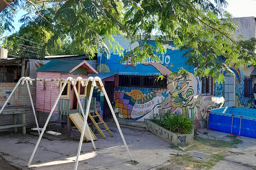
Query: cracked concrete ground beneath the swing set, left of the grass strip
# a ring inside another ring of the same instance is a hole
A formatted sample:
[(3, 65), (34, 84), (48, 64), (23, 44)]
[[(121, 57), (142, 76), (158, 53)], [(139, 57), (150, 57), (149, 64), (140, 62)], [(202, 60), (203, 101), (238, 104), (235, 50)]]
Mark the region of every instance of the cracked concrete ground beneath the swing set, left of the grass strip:
[[(97, 151), (93, 150), (92, 142), (83, 142), (80, 161), (77, 169), (154, 169), (167, 162), (170, 153), (178, 150), (170, 149), (170, 144), (147, 129), (120, 125), (132, 159), (130, 161), (124, 143), (114, 123), (107, 122), (113, 137), (104, 132), (106, 139), (97, 133), (94, 141)], [(59, 129), (60, 130), (60, 129)], [(36, 133), (33, 133), (36, 134)], [(79, 141), (79, 133), (72, 131), (72, 138), (66, 135), (53, 136), (44, 134), (31, 166), (27, 163), (38, 136), (5, 135), (0, 137), (0, 154), (12, 165), (22, 169), (74, 169)], [(1, 168), (0, 168), (1, 169)]]

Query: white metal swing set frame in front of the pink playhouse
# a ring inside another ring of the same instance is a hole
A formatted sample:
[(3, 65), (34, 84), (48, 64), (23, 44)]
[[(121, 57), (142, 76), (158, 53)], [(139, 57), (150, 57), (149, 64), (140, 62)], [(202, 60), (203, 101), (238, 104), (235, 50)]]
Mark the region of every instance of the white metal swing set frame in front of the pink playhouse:
[[(42, 80), (43, 80), (43, 81), (59, 81), (59, 82), (60, 82), (60, 81), (64, 81), (64, 84), (62, 85), (62, 89), (60, 89), (59, 95), (58, 95), (56, 101), (54, 102), (54, 105), (53, 105), (53, 107), (52, 107), (52, 109), (51, 109), (50, 114), (48, 115), (48, 118), (47, 118), (47, 120), (46, 120), (46, 122), (45, 122), (44, 128), (41, 129), (41, 128), (39, 128), (38, 121), (37, 121), (37, 118), (36, 118), (35, 109), (34, 109), (34, 104), (33, 104), (32, 96), (31, 96), (31, 92), (30, 92), (30, 90), (29, 90), (29, 84), (28, 84), (28, 82), (32, 85), (32, 81), (42, 81)], [(127, 147), (127, 144), (126, 144), (124, 135), (123, 135), (123, 133), (122, 133), (122, 131), (121, 131), (121, 129), (120, 129), (120, 125), (119, 125), (119, 123), (118, 123), (118, 121), (117, 121), (117, 118), (116, 118), (115, 115), (114, 115), (114, 110), (113, 110), (113, 108), (112, 108), (111, 102), (109, 101), (109, 98), (108, 98), (108, 96), (107, 96), (106, 90), (105, 90), (105, 88), (104, 88), (104, 86), (103, 86), (103, 83), (102, 83), (102, 81), (101, 81), (101, 79), (100, 79), (99, 77), (94, 77), (94, 78), (93, 78), (93, 77), (89, 77), (89, 78), (87, 78), (87, 79), (83, 79), (83, 78), (81, 78), (81, 77), (77, 77), (77, 78), (75, 78), (75, 79), (72, 78), (72, 77), (68, 77), (68, 78), (66, 78), (66, 79), (31, 79), (31, 78), (29, 78), (29, 77), (22, 77), (22, 78), (20, 78), (20, 80), (17, 82), (17, 84), (16, 84), (16, 86), (14, 87), (13, 91), (10, 93), (8, 99), (5, 101), (4, 105), (2, 106), (2, 109), (0, 110), (0, 114), (2, 113), (2, 111), (3, 111), (4, 107), (5, 107), (5, 105), (7, 105), (8, 101), (9, 101), (9, 99), (11, 98), (11, 96), (13, 95), (13, 93), (15, 92), (17, 86), (19, 86), (19, 84), (23, 85), (23, 84), (26, 82), (27, 89), (28, 89), (28, 95), (29, 95), (29, 98), (30, 98), (30, 100), (31, 100), (31, 105), (32, 105), (32, 109), (33, 109), (33, 113), (34, 113), (34, 117), (35, 117), (36, 128), (38, 129), (38, 134), (39, 134), (38, 141), (37, 141), (36, 144), (35, 144), (35, 148), (34, 148), (34, 150), (33, 150), (33, 153), (32, 153), (32, 155), (31, 155), (31, 158), (30, 158), (29, 161), (28, 161), (27, 167), (29, 167), (29, 166), (31, 165), (31, 162), (32, 162), (33, 157), (34, 157), (35, 152), (36, 152), (36, 149), (38, 148), (39, 143), (40, 143), (40, 141), (41, 141), (42, 135), (44, 134), (44, 132), (45, 132), (45, 130), (46, 130), (47, 124), (48, 124), (48, 122), (50, 121), (50, 118), (51, 118), (51, 116), (52, 116), (52, 114), (53, 114), (53, 111), (54, 111), (54, 109), (56, 108), (56, 106), (57, 106), (57, 104), (58, 104), (58, 102), (59, 102), (60, 96), (62, 95), (62, 92), (63, 92), (63, 90), (64, 90), (66, 84), (68, 83), (68, 81), (70, 81), (70, 83), (71, 83), (72, 86), (74, 87), (75, 94), (76, 94), (76, 97), (77, 97), (77, 102), (78, 102), (78, 105), (79, 105), (79, 107), (80, 107), (80, 109), (81, 109), (81, 112), (82, 112), (82, 115), (83, 115), (83, 118), (84, 118), (84, 121), (83, 121), (83, 128), (82, 128), (82, 133), (81, 133), (81, 134), (84, 134), (84, 131), (86, 130), (86, 127), (87, 127), (87, 130), (89, 130), (89, 127), (88, 127), (88, 125), (87, 125), (87, 124), (88, 124), (88, 123), (87, 123), (87, 118), (88, 118), (88, 114), (89, 114), (89, 106), (90, 106), (90, 103), (92, 102), (93, 89), (94, 89), (94, 87), (96, 86), (96, 82), (98, 82), (98, 83), (100, 84), (101, 89), (102, 89), (102, 91), (103, 91), (103, 94), (104, 94), (104, 96), (105, 96), (105, 98), (106, 98), (106, 100), (107, 100), (109, 109), (110, 109), (111, 112), (112, 112), (114, 121), (115, 121), (115, 123), (116, 123), (116, 125), (117, 125), (117, 128), (118, 128), (118, 130), (119, 130), (119, 133), (120, 133), (120, 135), (121, 135), (121, 138), (122, 138), (122, 140), (123, 140), (123, 142), (124, 142), (124, 146), (125, 146), (125, 148), (126, 148), (126, 150), (127, 150), (127, 153), (129, 154), (130, 160), (132, 161), (132, 156), (131, 156), (131, 153), (130, 153), (130, 151), (129, 151), (129, 148)], [(89, 82), (92, 82), (92, 87), (91, 87), (90, 93), (89, 93), (89, 99), (88, 99), (88, 104), (87, 104), (88, 107), (86, 108), (86, 113), (84, 113), (83, 106), (82, 106), (82, 104), (81, 104), (81, 101), (80, 101), (80, 98), (79, 98), (79, 95), (78, 95), (78, 92), (77, 92), (77, 89), (76, 89), (76, 83), (79, 82), (79, 81), (81, 82), (81, 85), (82, 85), (82, 86), (86, 86), (86, 87), (88, 86), (88, 83), (89, 83)], [(41, 133), (40, 133), (40, 130), (41, 130)], [(94, 148), (94, 150), (96, 151), (96, 147), (95, 147), (95, 144), (94, 144), (93, 137), (92, 137), (92, 134), (91, 134), (91, 133), (89, 133), (89, 137), (90, 137), (90, 141), (92, 141), (93, 148)], [(77, 150), (76, 162), (75, 162), (75, 167), (74, 167), (75, 170), (77, 169), (77, 166), (78, 166), (78, 160), (79, 160), (79, 156), (80, 156), (80, 152), (81, 152), (81, 148), (82, 148), (82, 142), (83, 142), (83, 135), (81, 135), (81, 137), (80, 137), (80, 142), (79, 142), (79, 146), (78, 146), (78, 150)]]

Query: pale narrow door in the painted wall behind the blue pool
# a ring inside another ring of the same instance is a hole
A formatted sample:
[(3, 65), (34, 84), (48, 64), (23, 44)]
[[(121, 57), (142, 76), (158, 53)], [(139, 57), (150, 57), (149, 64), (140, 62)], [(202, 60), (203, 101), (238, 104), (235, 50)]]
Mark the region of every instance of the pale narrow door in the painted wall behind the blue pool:
[(235, 106), (235, 77), (225, 75), (224, 81), (224, 106)]

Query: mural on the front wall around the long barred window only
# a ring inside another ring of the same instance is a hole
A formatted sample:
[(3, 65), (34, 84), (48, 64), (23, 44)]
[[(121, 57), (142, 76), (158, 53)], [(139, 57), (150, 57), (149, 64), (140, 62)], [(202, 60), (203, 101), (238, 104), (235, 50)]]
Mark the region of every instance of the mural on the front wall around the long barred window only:
[[(129, 53), (138, 45), (138, 42), (130, 45), (130, 42), (121, 36), (115, 37), (115, 39), (124, 47), (124, 53)], [(154, 42), (151, 43), (154, 45)], [(195, 83), (198, 80), (193, 76), (194, 70), (185, 65), (186, 59), (182, 58), (184, 52), (179, 51), (172, 43), (166, 44), (166, 49), (165, 54), (156, 52), (156, 55), (159, 55), (161, 59), (160, 62), (145, 60), (143, 64), (136, 66), (129, 61), (125, 64), (119, 64), (120, 56), (113, 52), (111, 53), (111, 60), (98, 54), (103, 68), (108, 67), (109, 72), (119, 72), (123, 75), (169, 75), (173, 71), (179, 71), (180, 67), (190, 72), (187, 77), (181, 75), (173, 78), (168, 77), (166, 89), (115, 88), (114, 111), (120, 118), (144, 121), (145, 118), (161, 118), (162, 114), (166, 112), (194, 118), (194, 95), (198, 91), (198, 83)]]

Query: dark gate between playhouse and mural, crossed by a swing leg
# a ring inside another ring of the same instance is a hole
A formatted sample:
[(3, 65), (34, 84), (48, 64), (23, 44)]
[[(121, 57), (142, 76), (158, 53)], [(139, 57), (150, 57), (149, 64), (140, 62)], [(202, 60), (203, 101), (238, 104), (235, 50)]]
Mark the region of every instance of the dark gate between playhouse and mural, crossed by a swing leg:
[[(107, 96), (108, 96), (111, 104), (113, 104), (113, 100), (114, 100), (114, 81), (105, 81), (104, 87), (105, 87), (105, 90), (107, 92)], [(113, 119), (113, 116), (112, 116), (111, 110), (109, 109), (107, 100), (104, 97), (103, 120), (106, 120), (106, 119)]]

